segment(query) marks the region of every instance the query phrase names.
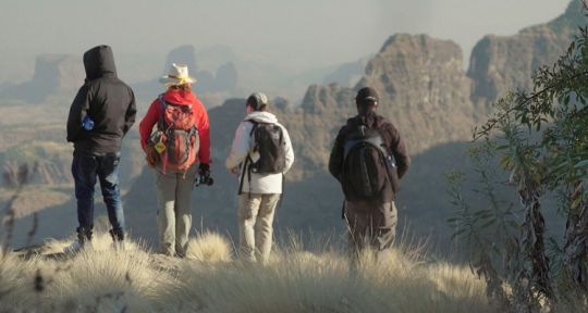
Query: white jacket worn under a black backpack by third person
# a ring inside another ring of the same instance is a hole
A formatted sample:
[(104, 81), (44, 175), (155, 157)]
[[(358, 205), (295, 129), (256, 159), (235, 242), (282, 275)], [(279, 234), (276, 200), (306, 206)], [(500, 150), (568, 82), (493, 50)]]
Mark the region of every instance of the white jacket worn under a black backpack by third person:
[[(284, 145), (285, 145), (285, 170), (284, 174), (292, 167), (294, 163), (294, 150), (292, 149), (292, 142), (290, 141), (290, 135), (287, 129), (284, 128), (275, 115), (269, 112), (253, 112), (245, 117), (245, 121), (241, 122), (236, 132), (235, 139), (233, 139), (233, 145), (231, 147), (231, 154), (226, 158), (225, 166), (228, 170), (234, 170), (240, 166), (245, 161), (245, 158), (253, 150), (254, 140), (249, 135), (254, 127), (252, 120), (258, 123), (271, 123), (282, 127), (282, 133), (284, 135)], [(243, 170), (243, 168), (242, 168)], [(238, 175), (241, 179), (243, 175)], [(243, 192), (252, 193), (282, 193), (282, 174), (255, 174), (252, 173), (252, 186), (249, 187), (248, 174), (245, 173), (243, 178)], [(241, 181), (240, 181), (241, 184)]]

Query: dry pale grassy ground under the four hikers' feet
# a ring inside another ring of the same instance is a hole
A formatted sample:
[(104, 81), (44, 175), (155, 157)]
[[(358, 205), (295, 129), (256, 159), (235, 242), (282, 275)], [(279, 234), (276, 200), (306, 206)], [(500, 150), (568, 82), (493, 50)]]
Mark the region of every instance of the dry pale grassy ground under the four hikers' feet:
[(3, 253), (0, 312), (493, 312), (468, 268), (406, 251), (354, 268), (342, 252), (286, 248), (260, 266), (217, 234), (192, 239), (183, 260), (96, 237), (75, 255), (64, 241)]

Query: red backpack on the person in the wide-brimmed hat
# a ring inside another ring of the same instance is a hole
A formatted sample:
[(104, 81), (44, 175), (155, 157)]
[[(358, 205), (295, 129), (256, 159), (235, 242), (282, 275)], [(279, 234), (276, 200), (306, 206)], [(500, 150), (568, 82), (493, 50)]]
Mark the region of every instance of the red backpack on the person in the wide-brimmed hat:
[(169, 166), (173, 171), (185, 172), (196, 162), (200, 148), (196, 118), (192, 105), (172, 104), (159, 96), (161, 112), (158, 128), (161, 132), (161, 143), (164, 150), (161, 153), (162, 172)]

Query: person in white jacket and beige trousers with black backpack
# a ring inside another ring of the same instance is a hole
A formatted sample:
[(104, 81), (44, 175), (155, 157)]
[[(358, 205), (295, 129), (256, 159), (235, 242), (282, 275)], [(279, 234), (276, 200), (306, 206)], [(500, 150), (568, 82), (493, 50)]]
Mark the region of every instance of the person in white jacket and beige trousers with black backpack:
[[(240, 177), (240, 256), (247, 261), (266, 263), (271, 251), (275, 206), (282, 195), (284, 174), (294, 163), (294, 151), (285, 127), (278, 122), (275, 115), (267, 111), (268, 98), (266, 95), (253, 93), (247, 98), (245, 108), (247, 116), (235, 132), (231, 154), (226, 158), (225, 165), (231, 173)], [(260, 127), (259, 125), (273, 127), (271, 128), (273, 130), (270, 132), (275, 132), (277, 135), (271, 138), (275, 139), (274, 145), (279, 142), (281, 146), (278, 152), (271, 149), (273, 147), (271, 143), (265, 146), (256, 141), (254, 137), (259, 133), (256, 130), (253, 134), (253, 130), (254, 127)], [(279, 129), (274, 126), (278, 126)], [(281, 135), (279, 139), (278, 135)], [(270, 158), (270, 163), (272, 163), (270, 165), (267, 165), (268, 162), (265, 162), (266, 165), (259, 165), (268, 160), (264, 155), (269, 152), (257, 151), (265, 149), (265, 147), (270, 147), (269, 150), (278, 154), (277, 158)], [(261, 168), (264, 166), (273, 170), (265, 171)]]

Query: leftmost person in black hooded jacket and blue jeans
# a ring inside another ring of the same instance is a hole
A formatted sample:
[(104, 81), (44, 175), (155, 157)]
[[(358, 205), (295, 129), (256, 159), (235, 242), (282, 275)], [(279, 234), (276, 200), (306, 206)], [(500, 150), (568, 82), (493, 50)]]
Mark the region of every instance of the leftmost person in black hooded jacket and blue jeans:
[(124, 213), (119, 188), (121, 142), (135, 123), (133, 90), (117, 77), (109, 46), (84, 53), (86, 80), (70, 109), (68, 141), (74, 143), (72, 174), (77, 199), (77, 240), (65, 250), (74, 252), (91, 240), (94, 187), (100, 181), (115, 243), (124, 239)]

